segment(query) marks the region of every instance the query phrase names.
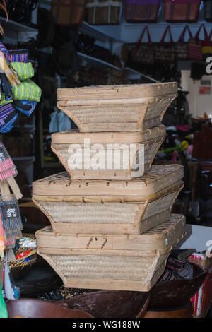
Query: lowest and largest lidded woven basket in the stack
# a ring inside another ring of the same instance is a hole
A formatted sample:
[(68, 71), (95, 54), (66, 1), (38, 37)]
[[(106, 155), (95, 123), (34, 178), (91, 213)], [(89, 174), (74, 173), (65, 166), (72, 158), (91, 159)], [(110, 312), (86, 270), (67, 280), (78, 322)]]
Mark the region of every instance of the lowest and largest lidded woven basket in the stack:
[(59, 274), (65, 287), (146, 292), (165, 271), (170, 250), (185, 232), (184, 216), (172, 215), (169, 223), (135, 237), (138, 249), (131, 249), (133, 236), (127, 235), (124, 248), (116, 236), (117, 249), (78, 249), (72, 247), (69, 236), (59, 235), (57, 241), (54, 233), (45, 229), (36, 234), (37, 253)]

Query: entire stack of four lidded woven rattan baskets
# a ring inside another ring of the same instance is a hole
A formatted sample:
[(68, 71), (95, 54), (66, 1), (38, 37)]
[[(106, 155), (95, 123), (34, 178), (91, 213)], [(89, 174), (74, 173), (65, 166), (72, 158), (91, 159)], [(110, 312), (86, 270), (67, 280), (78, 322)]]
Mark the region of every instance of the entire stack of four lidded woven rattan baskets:
[(34, 182), (33, 201), (51, 223), (36, 234), (37, 252), (65, 287), (148, 291), (165, 270), (185, 234), (184, 216), (171, 215), (184, 171), (152, 163), (176, 96), (177, 83), (57, 91), (78, 131), (52, 134), (66, 172)]

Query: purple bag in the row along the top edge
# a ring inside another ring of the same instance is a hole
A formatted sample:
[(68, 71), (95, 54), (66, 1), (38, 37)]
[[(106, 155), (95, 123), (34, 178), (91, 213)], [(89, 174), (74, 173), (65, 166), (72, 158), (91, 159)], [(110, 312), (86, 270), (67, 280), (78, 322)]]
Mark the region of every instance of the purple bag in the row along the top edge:
[(160, 0), (126, 0), (125, 19), (132, 23), (155, 23), (160, 3)]

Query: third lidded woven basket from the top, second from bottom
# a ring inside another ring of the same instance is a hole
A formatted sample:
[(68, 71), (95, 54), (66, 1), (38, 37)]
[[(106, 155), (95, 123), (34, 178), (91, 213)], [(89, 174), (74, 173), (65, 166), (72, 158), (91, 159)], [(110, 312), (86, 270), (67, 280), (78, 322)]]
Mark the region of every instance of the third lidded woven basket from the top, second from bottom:
[(54, 232), (141, 234), (169, 220), (182, 177), (181, 165), (155, 165), (129, 182), (71, 181), (63, 172), (34, 182), (33, 201)]

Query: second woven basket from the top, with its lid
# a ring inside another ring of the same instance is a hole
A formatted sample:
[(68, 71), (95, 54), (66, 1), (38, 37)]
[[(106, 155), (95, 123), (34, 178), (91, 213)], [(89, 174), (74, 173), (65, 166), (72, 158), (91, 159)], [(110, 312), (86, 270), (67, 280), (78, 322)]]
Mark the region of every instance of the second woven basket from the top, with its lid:
[(150, 170), (164, 139), (163, 125), (141, 133), (61, 131), (52, 134), (52, 151), (71, 179), (129, 180)]

